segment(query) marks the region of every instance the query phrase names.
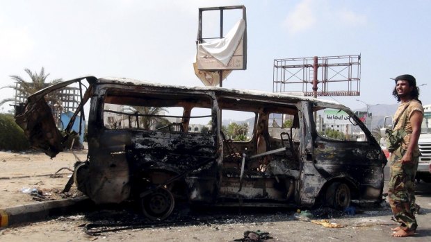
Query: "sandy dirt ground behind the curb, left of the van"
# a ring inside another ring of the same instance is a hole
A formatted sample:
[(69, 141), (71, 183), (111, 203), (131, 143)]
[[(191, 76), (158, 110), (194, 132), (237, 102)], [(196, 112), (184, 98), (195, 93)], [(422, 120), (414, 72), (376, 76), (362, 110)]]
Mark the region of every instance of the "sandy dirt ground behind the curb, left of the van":
[(79, 195), (75, 187), (66, 195), (61, 191), (76, 160), (86, 160), (86, 156), (86, 150), (67, 151), (54, 159), (44, 153), (0, 151), (0, 208)]

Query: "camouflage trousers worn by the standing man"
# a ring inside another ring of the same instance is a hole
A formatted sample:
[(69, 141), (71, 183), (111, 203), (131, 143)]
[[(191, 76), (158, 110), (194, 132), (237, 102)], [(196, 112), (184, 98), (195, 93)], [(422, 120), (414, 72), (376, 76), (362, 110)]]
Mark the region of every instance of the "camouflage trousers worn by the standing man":
[(416, 198), (414, 197), (414, 176), (418, 169), (418, 153), (414, 153), (412, 162), (402, 164), (401, 158), (405, 150), (398, 148), (393, 151), (389, 162), (391, 164), (391, 178), (389, 179), (389, 205), (403, 230), (416, 230), (418, 224), (414, 213)]

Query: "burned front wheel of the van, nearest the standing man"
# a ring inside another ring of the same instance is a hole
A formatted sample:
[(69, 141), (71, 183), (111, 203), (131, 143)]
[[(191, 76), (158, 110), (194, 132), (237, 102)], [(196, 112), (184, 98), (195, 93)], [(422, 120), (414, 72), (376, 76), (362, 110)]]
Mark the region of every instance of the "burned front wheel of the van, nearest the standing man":
[(334, 182), (326, 190), (326, 203), (334, 209), (350, 206), (350, 188), (343, 182)]

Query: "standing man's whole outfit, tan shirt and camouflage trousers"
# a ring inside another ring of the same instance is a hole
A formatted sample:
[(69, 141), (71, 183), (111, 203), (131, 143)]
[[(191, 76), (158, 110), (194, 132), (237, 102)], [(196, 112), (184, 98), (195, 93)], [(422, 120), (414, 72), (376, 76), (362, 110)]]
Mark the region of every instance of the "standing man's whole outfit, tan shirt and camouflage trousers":
[[(405, 105), (409, 105), (405, 114), (402, 111)], [(403, 230), (416, 230), (418, 224), (416, 223), (416, 218), (414, 217), (415, 211), (415, 200), (414, 197), (414, 176), (418, 169), (418, 157), (419, 147), (414, 148), (412, 162), (408, 164), (402, 164), (401, 158), (407, 150), (409, 145), (410, 137), (412, 134), (412, 126), (410, 125), (409, 117), (412, 116), (414, 111), (419, 111), (423, 114), (423, 107), (421, 103), (416, 100), (409, 101), (407, 103), (401, 103), (396, 111), (393, 119), (396, 120), (399, 117), (397, 126), (394, 130), (403, 128), (407, 135), (405, 135), (400, 148), (397, 148), (389, 157), (389, 162), (391, 164), (391, 178), (389, 179), (389, 204), (394, 217), (398, 223), (401, 223), (401, 228)], [(406, 120), (404, 120), (406, 119)], [(403, 127), (402, 124), (404, 124)]]

